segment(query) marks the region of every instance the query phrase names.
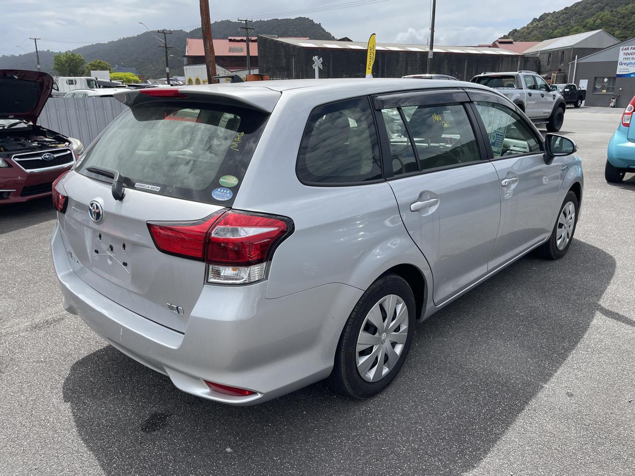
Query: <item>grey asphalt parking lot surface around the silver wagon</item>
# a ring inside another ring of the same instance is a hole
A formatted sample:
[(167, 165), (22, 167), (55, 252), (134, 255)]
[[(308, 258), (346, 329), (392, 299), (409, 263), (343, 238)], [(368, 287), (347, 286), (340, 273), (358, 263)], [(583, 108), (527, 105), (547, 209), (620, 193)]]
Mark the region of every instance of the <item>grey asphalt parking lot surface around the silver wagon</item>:
[(568, 255), (523, 258), (420, 324), (367, 401), (178, 391), (64, 312), (50, 199), (0, 208), (0, 474), (632, 475), (635, 176), (603, 175), (620, 112), (566, 112), (585, 174)]

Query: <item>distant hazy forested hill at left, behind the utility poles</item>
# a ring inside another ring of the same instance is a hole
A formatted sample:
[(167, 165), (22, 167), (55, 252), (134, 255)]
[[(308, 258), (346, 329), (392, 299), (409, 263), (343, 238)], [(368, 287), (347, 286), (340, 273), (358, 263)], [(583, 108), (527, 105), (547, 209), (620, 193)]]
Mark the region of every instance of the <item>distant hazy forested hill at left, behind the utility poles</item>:
[[(215, 38), (227, 38), (228, 36), (244, 36), (244, 30), (239, 27), (244, 23), (222, 20), (211, 24), (211, 32)], [(277, 36), (301, 36), (311, 39), (334, 39), (322, 25), (314, 22), (311, 18), (274, 18), (273, 20), (260, 20), (250, 25), (255, 28), (252, 34), (265, 34)], [(95, 43), (76, 48), (75, 53), (86, 58), (86, 61), (104, 60), (110, 65), (123, 65), (128, 68), (137, 69), (138, 74), (147, 77), (159, 78), (165, 76), (165, 56), (154, 36), (163, 36), (144, 32), (137, 36), (120, 38), (108, 43)], [(170, 71), (173, 76), (183, 74), (182, 56), (185, 54), (186, 38), (201, 38), (201, 29), (197, 28), (186, 32), (184, 30), (174, 30), (168, 35), (168, 46), (170, 50)], [(53, 67), (53, 56), (58, 51), (44, 50), (39, 52), (40, 64), (43, 71), (51, 72)], [(36, 69), (35, 53), (28, 55), (4, 55), (0, 56), (0, 69)]]

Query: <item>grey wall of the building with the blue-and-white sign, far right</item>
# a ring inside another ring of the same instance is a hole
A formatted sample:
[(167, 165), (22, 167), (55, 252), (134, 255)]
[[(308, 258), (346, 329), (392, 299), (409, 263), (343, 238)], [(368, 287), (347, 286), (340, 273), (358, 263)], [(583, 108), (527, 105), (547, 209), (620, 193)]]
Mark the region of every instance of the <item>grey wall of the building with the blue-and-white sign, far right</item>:
[[(573, 66), (572, 66), (573, 72)], [(608, 107), (608, 103), (613, 97), (611, 93), (593, 93), (593, 81), (596, 77), (615, 77), (617, 72), (617, 55), (613, 61), (600, 62), (579, 62), (575, 70), (575, 84), (580, 84), (580, 79), (587, 79), (587, 99), (584, 105)], [(622, 88), (622, 91), (619, 89)], [(617, 100), (617, 107), (625, 108), (635, 96), (635, 77), (618, 77), (615, 81), (615, 94), (620, 97)]]

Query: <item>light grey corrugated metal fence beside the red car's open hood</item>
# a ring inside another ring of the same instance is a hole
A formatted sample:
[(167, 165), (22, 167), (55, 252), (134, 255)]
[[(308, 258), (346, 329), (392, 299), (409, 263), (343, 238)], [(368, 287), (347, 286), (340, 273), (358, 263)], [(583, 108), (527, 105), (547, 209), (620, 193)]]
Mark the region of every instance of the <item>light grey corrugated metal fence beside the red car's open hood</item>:
[(37, 123), (88, 146), (125, 109), (115, 98), (48, 98)]

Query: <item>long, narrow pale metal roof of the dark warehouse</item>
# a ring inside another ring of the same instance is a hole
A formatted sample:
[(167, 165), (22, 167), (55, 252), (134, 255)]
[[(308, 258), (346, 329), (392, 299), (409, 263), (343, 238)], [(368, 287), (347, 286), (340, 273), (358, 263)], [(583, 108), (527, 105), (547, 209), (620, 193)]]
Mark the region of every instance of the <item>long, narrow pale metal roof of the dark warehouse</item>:
[[(368, 43), (365, 41), (329, 41), (329, 40), (307, 40), (295, 38), (272, 38), (283, 43), (293, 44), (302, 48), (316, 48), (325, 50), (366, 50)], [(377, 51), (405, 51), (406, 53), (427, 53), (429, 46), (425, 44), (403, 44), (403, 43), (377, 43)], [(488, 48), (486, 46), (434, 46), (434, 53), (472, 53), (477, 55), (518, 55), (513, 51), (502, 48)]]

